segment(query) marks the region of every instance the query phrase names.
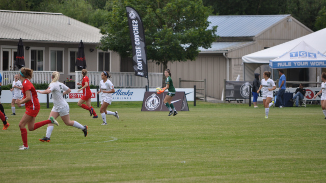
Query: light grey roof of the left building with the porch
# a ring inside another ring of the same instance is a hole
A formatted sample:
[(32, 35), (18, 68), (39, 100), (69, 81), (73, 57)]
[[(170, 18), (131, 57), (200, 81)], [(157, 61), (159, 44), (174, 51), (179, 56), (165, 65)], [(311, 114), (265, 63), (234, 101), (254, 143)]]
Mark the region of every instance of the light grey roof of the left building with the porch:
[[(68, 24), (70, 22), (70, 24)], [(61, 13), (0, 10), (0, 39), (99, 43), (100, 29)]]

